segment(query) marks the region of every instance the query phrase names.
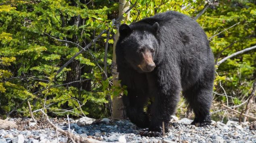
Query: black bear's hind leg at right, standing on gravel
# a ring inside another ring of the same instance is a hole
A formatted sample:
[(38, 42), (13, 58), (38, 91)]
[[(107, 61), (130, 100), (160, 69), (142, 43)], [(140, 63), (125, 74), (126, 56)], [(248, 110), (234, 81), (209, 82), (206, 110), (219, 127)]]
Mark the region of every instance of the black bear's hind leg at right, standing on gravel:
[(213, 82), (197, 83), (190, 89), (183, 92), (189, 107), (195, 113), (195, 119), (191, 125), (205, 126), (210, 125), (210, 107), (212, 103)]

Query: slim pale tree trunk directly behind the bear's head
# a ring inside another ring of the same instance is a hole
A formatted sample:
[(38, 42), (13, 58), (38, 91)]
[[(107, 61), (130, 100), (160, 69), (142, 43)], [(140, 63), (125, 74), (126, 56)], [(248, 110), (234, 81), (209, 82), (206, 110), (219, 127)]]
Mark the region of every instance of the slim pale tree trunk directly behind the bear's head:
[[(117, 23), (117, 27), (119, 27), (120, 22), (124, 19), (123, 14), (126, 10), (129, 9), (129, 2), (126, 0), (119, 0), (119, 22)], [(120, 86), (118, 83), (118, 73), (117, 73), (117, 64), (116, 64), (116, 44), (119, 38), (119, 31), (114, 35), (114, 44), (113, 44), (113, 58), (112, 58), (112, 76), (113, 76), (113, 86)], [(125, 111), (122, 102), (122, 97), (113, 97), (113, 117), (117, 119), (125, 119)]]

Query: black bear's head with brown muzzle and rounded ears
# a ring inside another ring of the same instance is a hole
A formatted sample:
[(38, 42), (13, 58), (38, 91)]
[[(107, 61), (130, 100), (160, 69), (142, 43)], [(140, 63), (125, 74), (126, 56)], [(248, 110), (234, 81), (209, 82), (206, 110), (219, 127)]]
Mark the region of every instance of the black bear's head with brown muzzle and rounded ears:
[[(159, 24), (135, 23), (122, 24), (119, 27), (119, 41), (117, 42), (117, 59), (124, 60), (127, 66), (131, 66), (139, 73), (147, 73), (154, 70), (154, 59), (158, 52), (157, 33)], [(118, 54), (122, 51), (121, 55)], [(120, 57), (122, 56), (122, 57)], [(117, 61), (118, 62), (118, 61)]]

